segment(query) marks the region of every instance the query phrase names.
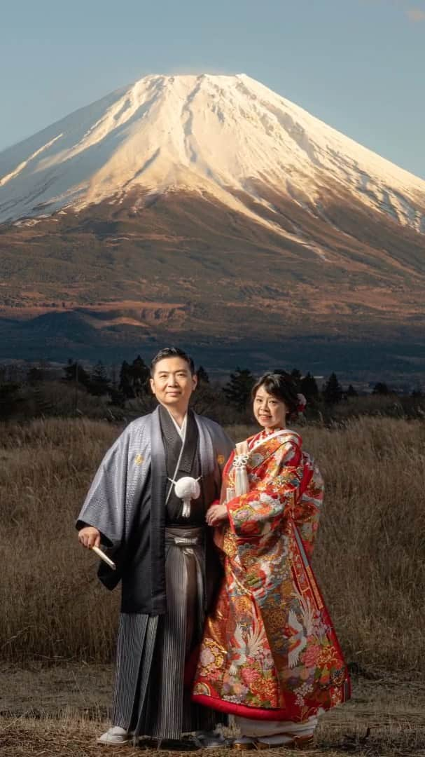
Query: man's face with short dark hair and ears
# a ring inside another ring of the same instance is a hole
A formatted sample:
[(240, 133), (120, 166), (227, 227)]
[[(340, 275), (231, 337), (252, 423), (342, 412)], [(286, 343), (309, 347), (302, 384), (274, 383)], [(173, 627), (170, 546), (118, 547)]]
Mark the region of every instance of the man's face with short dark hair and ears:
[(188, 410), (189, 399), (197, 385), (196, 375), (191, 375), (191, 369), (182, 357), (164, 357), (155, 366), (150, 388), (161, 403), (168, 410)]

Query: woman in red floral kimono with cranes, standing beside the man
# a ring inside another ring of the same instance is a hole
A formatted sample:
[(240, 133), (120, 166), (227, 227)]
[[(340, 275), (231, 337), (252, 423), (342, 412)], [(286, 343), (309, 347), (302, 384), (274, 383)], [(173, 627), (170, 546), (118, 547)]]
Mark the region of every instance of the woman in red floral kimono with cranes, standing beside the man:
[[(235, 715), (241, 749), (312, 745), (318, 714), (349, 699), (349, 676), (309, 560), (323, 481), (287, 429), (299, 397), (290, 375), (253, 388), (259, 434), (237, 445), (222, 498), (206, 515), (225, 554), (207, 618), (193, 699)], [(302, 398), (303, 399), (303, 398)]]

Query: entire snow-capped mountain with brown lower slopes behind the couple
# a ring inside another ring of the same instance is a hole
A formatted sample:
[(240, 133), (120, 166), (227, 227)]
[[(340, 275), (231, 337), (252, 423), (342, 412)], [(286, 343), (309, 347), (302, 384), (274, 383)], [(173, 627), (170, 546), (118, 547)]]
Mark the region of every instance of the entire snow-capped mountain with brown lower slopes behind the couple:
[(0, 260), (2, 357), (368, 341), (402, 371), (425, 182), (244, 74), (145, 76), (0, 153)]

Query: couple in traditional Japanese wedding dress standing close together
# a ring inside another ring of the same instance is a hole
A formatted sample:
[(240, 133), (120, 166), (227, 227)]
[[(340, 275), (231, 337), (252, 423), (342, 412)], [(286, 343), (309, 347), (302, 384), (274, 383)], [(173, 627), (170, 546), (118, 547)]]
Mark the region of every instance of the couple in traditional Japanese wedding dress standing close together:
[[(287, 428), (289, 375), (253, 388), (261, 430), (234, 444), (189, 409), (194, 363), (175, 347), (151, 364), (154, 413), (107, 452), (77, 528), (109, 548), (122, 583), (113, 725), (98, 740), (163, 748), (312, 745), (318, 715), (349, 698), (339, 643), (310, 567), (323, 482)], [(187, 745), (190, 746), (190, 745)]]

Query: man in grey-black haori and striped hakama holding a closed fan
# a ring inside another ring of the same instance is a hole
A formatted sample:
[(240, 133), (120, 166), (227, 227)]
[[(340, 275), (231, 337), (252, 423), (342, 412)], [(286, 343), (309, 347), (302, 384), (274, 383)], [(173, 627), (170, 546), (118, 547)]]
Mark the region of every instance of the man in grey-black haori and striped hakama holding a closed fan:
[(159, 405), (107, 452), (76, 523), (85, 547), (110, 547), (116, 572), (101, 563), (101, 581), (122, 581), (113, 726), (98, 741), (144, 735), (172, 748), (200, 729), (200, 743), (215, 746), (205, 734), (219, 715), (191, 704), (184, 674), (219, 578), (205, 513), (234, 445), (188, 409), (197, 376), (185, 352), (161, 350), (150, 375)]

